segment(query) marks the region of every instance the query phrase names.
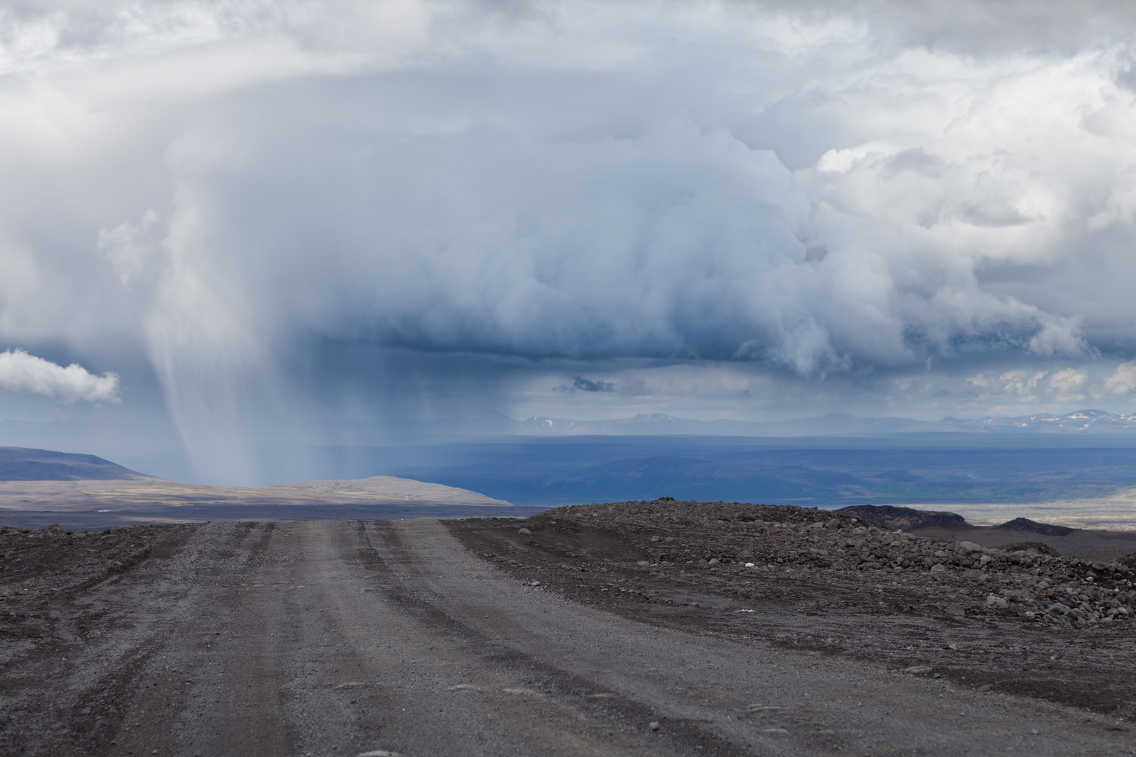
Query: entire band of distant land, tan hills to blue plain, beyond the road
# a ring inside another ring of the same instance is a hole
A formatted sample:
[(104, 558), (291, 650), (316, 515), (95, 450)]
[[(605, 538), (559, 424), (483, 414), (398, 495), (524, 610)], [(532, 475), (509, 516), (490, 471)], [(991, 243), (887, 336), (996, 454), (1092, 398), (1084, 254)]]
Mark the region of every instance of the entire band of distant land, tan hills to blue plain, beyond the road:
[[(975, 525), (1025, 518), (1136, 530), (1136, 434), (1121, 432), (1136, 429), (1134, 417), (1081, 411), (958, 421), (986, 430), (951, 434), (896, 431), (901, 422), (920, 423), (828, 415), (788, 422), (828, 435), (761, 437), (691, 432), (725, 422), (650, 414), (461, 443), (266, 448), (275, 468), (261, 480), (299, 482), (259, 487), (178, 483), (94, 455), (0, 447), (0, 524), (56, 522), (51, 513), (110, 524), (524, 516), (669, 496), (827, 510), (907, 506), (958, 513)], [(636, 430), (645, 426), (675, 432)], [(1021, 432), (991, 430), (1009, 428)]]

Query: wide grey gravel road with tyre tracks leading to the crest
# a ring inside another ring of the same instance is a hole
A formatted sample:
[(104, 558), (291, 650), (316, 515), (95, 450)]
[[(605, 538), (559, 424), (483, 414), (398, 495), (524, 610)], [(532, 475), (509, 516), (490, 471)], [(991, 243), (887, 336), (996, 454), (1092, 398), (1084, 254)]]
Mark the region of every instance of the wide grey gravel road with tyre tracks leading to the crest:
[(438, 521), (164, 539), (2, 640), (0, 752), (1136, 754), (1105, 715), (588, 607)]

